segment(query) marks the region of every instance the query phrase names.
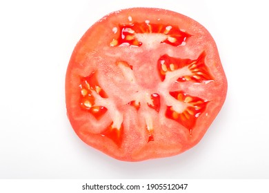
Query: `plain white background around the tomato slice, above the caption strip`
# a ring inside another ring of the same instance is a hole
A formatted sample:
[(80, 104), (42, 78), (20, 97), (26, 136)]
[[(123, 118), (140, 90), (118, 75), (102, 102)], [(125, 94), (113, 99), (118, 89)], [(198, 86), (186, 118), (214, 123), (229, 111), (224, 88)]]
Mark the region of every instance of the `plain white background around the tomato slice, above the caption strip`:
[[(66, 116), (74, 45), (105, 14), (130, 7), (186, 14), (219, 48), (226, 103), (179, 156), (117, 161), (85, 145)], [(1, 1), (0, 179), (268, 179), (268, 18), (266, 1)]]

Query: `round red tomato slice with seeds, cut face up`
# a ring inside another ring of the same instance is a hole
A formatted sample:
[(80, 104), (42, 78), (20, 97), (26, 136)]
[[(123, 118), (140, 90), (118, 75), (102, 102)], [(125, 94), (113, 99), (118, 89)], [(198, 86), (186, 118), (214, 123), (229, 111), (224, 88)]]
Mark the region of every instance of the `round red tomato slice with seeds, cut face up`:
[(121, 161), (180, 154), (221, 110), (227, 81), (206, 28), (177, 12), (112, 12), (83, 35), (66, 73), (72, 128)]

